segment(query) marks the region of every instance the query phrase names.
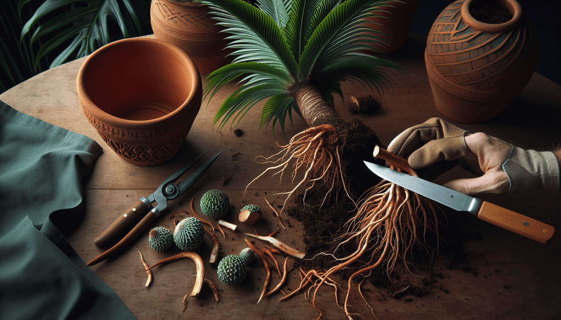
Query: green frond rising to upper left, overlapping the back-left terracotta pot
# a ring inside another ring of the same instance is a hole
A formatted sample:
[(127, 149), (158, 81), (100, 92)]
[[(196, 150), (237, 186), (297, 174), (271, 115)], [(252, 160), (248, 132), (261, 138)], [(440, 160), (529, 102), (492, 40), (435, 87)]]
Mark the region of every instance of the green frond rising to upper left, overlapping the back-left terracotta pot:
[(238, 49), (232, 54), (238, 55), (233, 63), (260, 62), (284, 69), (296, 74), (294, 59), (286, 38), (272, 17), (258, 8), (241, 0), (209, 0), (214, 10), (214, 19), (218, 24), (227, 27), (224, 32), (233, 34), (226, 39), (238, 39), (227, 48)]

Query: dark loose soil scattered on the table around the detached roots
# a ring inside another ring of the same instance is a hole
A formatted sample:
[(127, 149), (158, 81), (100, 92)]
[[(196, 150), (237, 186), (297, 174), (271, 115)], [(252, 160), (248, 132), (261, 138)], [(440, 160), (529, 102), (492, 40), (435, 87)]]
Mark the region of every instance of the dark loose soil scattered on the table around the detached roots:
[[(348, 198), (339, 195), (338, 201), (335, 201), (335, 197), (332, 196), (330, 199), (325, 200), (323, 206), (319, 206), (324, 196), (324, 187), (316, 190), (310, 189), (306, 193), (306, 205), (304, 205), (304, 193), (301, 193), (284, 209), (288, 216), (295, 217), (301, 221), (304, 226), (306, 257), (305, 259), (297, 260), (294, 267), (302, 267), (305, 272), (311, 269), (323, 269), (323, 271), (327, 271), (329, 268), (344, 262), (334, 261), (334, 258), (327, 254), (333, 254), (338, 243), (342, 241), (334, 241), (334, 239), (344, 234), (346, 231), (344, 229), (344, 224), (354, 216), (355, 205), (353, 205)], [(439, 221), (444, 221), (444, 224), (446, 223), (445, 221), (447, 221), (442, 212), (438, 218)], [(411, 275), (411, 273), (406, 272), (403, 267), (403, 261), (396, 263), (396, 267), (394, 267), (389, 275), (387, 261), (384, 262), (383, 265), (374, 268), (371, 273), (366, 274), (367, 280), (369, 280), (372, 285), (378, 287), (378, 289), (381, 289), (380, 294), (383, 294), (383, 296), (378, 296), (378, 298), (376, 298), (377, 300), (381, 301), (386, 299), (386, 297), (399, 299), (407, 294), (421, 297), (431, 293), (434, 289), (440, 291), (445, 290), (442, 284), (438, 284), (438, 280), (443, 279), (444, 276), (442, 273), (436, 272), (433, 269), (436, 258), (444, 261), (445, 267), (449, 270), (461, 269), (465, 272), (472, 272), (470, 267), (470, 255), (472, 253), (463, 250), (461, 237), (465, 237), (465, 235), (462, 235), (458, 226), (453, 225), (453, 221), (448, 219), (447, 228), (441, 226), (441, 228), (439, 228), (439, 234), (442, 239), (439, 243), (438, 257), (436, 254), (431, 257), (426, 251), (421, 252), (417, 250), (412, 253), (414, 262), (407, 261), (410, 270), (415, 272), (416, 275), (422, 275), (422, 277)], [(470, 235), (470, 238), (481, 240), (482, 236), (481, 234)], [(436, 248), (436, 235), (434, 233), (429, 234), (427, 232), (426, 239), (432, 248)], [(346, 257), (355, 252), (356, 249), (357, 243), (351, 241), (341, 245), (334, 256), (338, 258)], [(320, 252), (327, 254), (316, 256), (316, 254)], [(367, 249), (360, 260), (365, 261), (366, 259), (367, 261), (372, 253), (373, 248)], [(380, 253), (377, 253), (373, 261), (377, 261), (379, 256)], [(307, 260), (312, 257), (315, 258)], [(433, 262), (433, 265), (431, 265), (431, 262)], [(343, 290), (346, 290), (346, 282), (349, 277), (362, 267), (364, 267), (364, 262), (356, 261), (335, 273), (344, 280), (344, 282), (339, 282), (339, 284), (342, 284)], [(361, 282), (363, 280), (362, 277), (362, 275), (357, 276), (353, 281), (356, 283)], [(356, 290), (356, 286), (353, 286), (353, 289)], [(383, 290), (385, 290), (385, 294)], [(369, 289), (365, 291), (369, 291)]]

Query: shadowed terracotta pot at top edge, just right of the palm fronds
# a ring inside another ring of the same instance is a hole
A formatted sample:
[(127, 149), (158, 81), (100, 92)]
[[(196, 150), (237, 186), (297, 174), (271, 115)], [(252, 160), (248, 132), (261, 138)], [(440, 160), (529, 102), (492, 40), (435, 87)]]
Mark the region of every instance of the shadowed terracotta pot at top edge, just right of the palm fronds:
[[(376, 30), (385, 34), (382, 38), (387, 41), (387, 44), (383, 47), (375, 44), (374, 47), (378, 48), (376, 52), (390, 53), (401, 48), (407, 39), (419, 3), (421, 3), (421, 0), (389, 1), (389, 6), (380, 6), (381, 10), (387, 12), (373, 12), (381, 17), (366, 18), (366, 20), (378, 23), (378, 25), (370, 24), (369, 26), (373, 26)], [(374, 50), (369, 51), (374, 52)]]

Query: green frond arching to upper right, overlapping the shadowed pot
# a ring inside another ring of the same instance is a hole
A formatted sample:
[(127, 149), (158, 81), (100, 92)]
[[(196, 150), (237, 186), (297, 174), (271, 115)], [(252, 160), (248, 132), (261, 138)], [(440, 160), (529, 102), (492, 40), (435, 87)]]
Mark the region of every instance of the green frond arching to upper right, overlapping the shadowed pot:
[(371, 11), (385, 4), (384, 1), (348, 0), (330, 11), (310, 36), (298, 62), (302, 75), (309, 77), (316, 68), (347, 58), (356, 50), (374, 48), (362, 42), (365, 37), (378, 42), (376, 36), (365, 33), (379, 34), (379, 31), (364, 25), (367, 22), (364, 19), (375, 17)]

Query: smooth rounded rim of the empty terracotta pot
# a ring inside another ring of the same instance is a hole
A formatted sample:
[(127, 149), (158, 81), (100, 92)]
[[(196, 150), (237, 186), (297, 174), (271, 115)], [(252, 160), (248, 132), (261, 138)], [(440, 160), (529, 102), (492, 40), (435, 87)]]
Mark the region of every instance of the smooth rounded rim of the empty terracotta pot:
[[(126, 119), (115, 117), (114, 115), (105, 112), (104, 110), (100, 109), (97, 105), (95, 105), (93, 101), (91, 101), (88, 92), (86, 92), (84, 87), (84, 75), (90, 62), (96, 59), (100, 54), (103, 54), (106, 50), (127, 43), (149, 43), (153, 45), (159, 45), (161, 47), (165, 47), (168, 50), (171, 50), (172, 52), (176, 53), (177, 55), (180, 55), (180, 57), (185, 59), (187, 68), (192, 71), (189, 74), (189, 76), (191, 77), (192, 87), (191, 87), (191, 91), (189, 92), (189, 95), (187, 96), (187, 99), (183, 101), (183, 104), (178, 106), (177, 109), (173, 110), (173, 112), (168, 113), (163, 117), (150, 119), (150, 120), (126, 120)], [(185, 112), (190, 101), (196, 98), (197, 90), (199, 89), (200, 86), (197, 76), (199, 76), (199, 71), (195, 63), (187, 55), (187, 53), (185, 53), (180, 48), (176, 47), (176, 45), (167, 43), (163, 40), (158, 40), (153, 38), (127, 38), (127, 39), (121, 39), (106, 44), (103, 47), (95, 50), (94, 53), (90, 54), (88, 58), (86, 58), (82, 66), (80, 67), (80, 71), (78, 72), (78, 76), (76, 80), (76, 87), (78, 90), (78, 96), (88, 101), (87, 109), (95, 118), (98, 118), (102, 122), (111, 124), (111, 126), (114, 127), (125, 128), (125, 129), (145, 129), (146, 127), (156, 128), (159, 126), (164, 126), (165, 124), (173, 121), (178, 114)]]

